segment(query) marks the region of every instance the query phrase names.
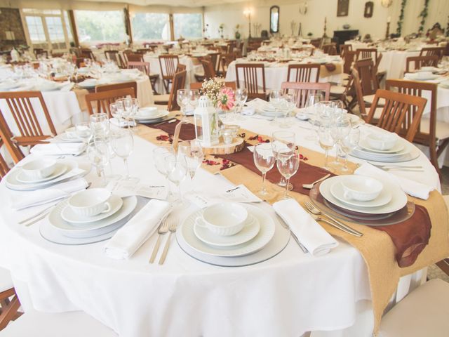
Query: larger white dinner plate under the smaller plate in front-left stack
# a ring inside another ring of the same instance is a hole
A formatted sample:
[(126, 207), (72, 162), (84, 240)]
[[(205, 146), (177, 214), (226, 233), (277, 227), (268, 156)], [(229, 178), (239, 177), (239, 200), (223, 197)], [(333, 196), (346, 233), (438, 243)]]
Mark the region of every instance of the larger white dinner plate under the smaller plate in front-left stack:
[[(85, 225), (74, 225), (65, 221), (61, 213), (68, 204), (68, 200), (61, 201), (48, 215), (48, 222), (61, 234), (67, 237), (95, 237), (105, 232), (109, 232), (109, 226), (115, 225), (123, 220), (135, 209), (138, 199), (135, 196), (123, 198), (123, 205), (116, 213), (102, 220), (88, 223)], [(107, 229), (106, 229), (107, 228)]]

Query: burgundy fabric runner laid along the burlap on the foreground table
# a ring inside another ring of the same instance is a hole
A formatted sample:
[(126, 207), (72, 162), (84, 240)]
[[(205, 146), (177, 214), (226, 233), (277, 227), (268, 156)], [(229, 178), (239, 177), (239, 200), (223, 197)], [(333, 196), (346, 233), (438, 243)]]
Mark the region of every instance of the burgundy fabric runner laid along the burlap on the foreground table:
[[(151, 128), (159, 128), (165, 131), (169, 135), (173, 136), (175, 127), (179, 123), (164, 123), (157, 126), (147, 125)], [(180, 139), (189, 140), (195, 138), (195, 126), (193, 124), (185, 124), (181, 128)], [(220, 154), (220, 158), (228, 159), (236, 164), (240, 164), (246, 169), (253, 171), (257, 174), (261, 174), (254, 164), (253, 152), (248, 150), (246, 146), (241, 152), (232, 154)], [(300, 161), (300, 168), (295, 176), (290, 178), (290, 183), (293, 184), (293, 191), (300, 194), (309, 195), (309, 190), (302, 188), (302, 184), (311, 183), (319, 178), (326, 176), (330, 173), (325, 169), (321, 169), (318, 166), (307, 164), (304, 161)], [(330, 173), (331, 176), (335, 174)], [(278, 183), (281, 179), (281, 173), (276, 168), (273, 168), (267, 173), (267, 179), (271, 183)], [(391, 241), (396, 246), (396, 261), (399, 267), (408, 267), (415, 263), (418, 255), (429, 244), (431, 221), (429, 213), (424, 206), (415, 205), (415, 213), (408, 220), (401, 223), (388, 226), (373, 226), (376, 230), (382, 230), (389, 234)]]

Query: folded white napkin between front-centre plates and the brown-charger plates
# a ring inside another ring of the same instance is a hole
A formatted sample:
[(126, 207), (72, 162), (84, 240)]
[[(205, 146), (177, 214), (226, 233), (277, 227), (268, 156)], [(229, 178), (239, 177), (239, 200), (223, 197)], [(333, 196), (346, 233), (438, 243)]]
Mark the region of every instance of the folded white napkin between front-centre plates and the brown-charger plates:
[(337, 240), (312, 219), (295, 199), (278, 201), (273, 208), (311, 255), (321, 256), (338, 246)]

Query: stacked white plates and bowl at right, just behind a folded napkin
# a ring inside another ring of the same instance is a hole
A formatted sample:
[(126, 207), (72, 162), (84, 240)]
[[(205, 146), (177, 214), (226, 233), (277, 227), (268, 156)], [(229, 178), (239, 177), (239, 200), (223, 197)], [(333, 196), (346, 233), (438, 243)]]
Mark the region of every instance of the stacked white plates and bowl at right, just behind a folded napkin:
[[(389, 137), (393, 137), (387, 142)], [(396, 163), (409, 161), (420, 156), (420, 152), (410, 143), (391, 133), (370, 133), (358, 143), (351, 155), (360, 159)]]

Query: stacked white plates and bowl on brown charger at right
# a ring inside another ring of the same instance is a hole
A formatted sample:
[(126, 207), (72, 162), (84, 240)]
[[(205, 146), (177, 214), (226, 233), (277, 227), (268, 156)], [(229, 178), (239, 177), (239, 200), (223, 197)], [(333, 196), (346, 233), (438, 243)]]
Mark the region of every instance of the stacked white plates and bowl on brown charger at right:
[(310, 197), (325, 213), (373, 226), (401, 222), (415, 210), (400, 187), (366, 176), (328, 178), (311, 190)]

